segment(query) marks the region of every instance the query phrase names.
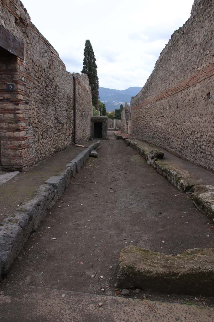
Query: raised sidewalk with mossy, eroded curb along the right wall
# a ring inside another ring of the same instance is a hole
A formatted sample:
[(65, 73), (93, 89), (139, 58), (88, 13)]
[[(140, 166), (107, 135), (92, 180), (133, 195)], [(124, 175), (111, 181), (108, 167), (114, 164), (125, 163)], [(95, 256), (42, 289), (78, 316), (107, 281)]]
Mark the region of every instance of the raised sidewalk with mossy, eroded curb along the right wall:
[(115, 135), (122, 136), (126, 145), (137, 150), (150, 166), (178, 190), (189, 194), (194, 204), (214, 221), (214, 173), (184, 161), (162, 148), (130, 139), (130, 135), (119, 131)]

